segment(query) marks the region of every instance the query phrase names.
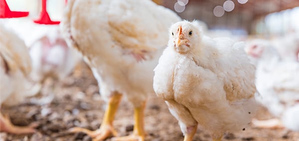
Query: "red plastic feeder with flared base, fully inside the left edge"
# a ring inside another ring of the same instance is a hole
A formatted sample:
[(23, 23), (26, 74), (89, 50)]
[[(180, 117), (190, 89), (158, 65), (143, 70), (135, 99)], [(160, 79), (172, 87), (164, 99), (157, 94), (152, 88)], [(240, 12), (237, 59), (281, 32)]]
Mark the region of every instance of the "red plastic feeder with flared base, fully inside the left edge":
[(34, 20), (34, 22), (38, 24), (59, 24), (60, 21), (51, 20), (46, 9), (47, 9), (47, 0), (42, 0), (42, 9), (41, 9), (40, 17), (39, 19)]

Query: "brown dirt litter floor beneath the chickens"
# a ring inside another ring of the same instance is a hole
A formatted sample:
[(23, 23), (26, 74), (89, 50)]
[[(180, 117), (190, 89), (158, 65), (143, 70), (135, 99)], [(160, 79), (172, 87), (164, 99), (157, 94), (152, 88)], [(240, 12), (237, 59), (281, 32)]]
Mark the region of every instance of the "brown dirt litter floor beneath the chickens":
[[(80, 66), (79, 71), (75, 71), (62, 82), (55, 82), (55, 97), (50, 92), (53, 81), (47, 81), (41, 92), (44, 95), (39, 96), (41, 99), (29, 98), (20, 105), (3, 107), (1, 112), (9, 114), (13, 124), (22, 126), (36, 121), (39, 126), (33, 135), (0, 133), (0, 141), (91, 141), (91, 138), (83, 133), (67, 132), (75, 126), (98, 129), (105, 109), (97, 81), (85, 64)], [(177, 121), (170, 115), (164, 102), (155, 95), (149, 96), (145, 115), (148, 134), (146, 141), (183, 141)], [(257, 118), (269, 119), (271, 116), (261, 108)], [(123, 99), (114, 123), (119, 136), (131, 134), (133, 123), (133, 107)], [(198, 129), (194, 141), (211, 141), (211, 137)], [(245, 131), (226, 134), (223, 141), (299, 141), (299, 133), (284, 129), (248, 127)]]

